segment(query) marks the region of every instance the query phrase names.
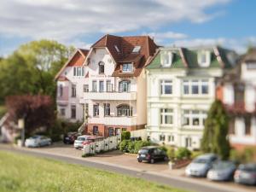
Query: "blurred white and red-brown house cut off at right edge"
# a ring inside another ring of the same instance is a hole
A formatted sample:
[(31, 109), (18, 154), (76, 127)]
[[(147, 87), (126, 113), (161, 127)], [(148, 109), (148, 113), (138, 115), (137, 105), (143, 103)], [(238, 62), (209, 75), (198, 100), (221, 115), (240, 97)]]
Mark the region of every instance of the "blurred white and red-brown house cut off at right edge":
[(219, 81), (217, 96), (230, 114), (230, 143), (256, 147), (256, 49)]

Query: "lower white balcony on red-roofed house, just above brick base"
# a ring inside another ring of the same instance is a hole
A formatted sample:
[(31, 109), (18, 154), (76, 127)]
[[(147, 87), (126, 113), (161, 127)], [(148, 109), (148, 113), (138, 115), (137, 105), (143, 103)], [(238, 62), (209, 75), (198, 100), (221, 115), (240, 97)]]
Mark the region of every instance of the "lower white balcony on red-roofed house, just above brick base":
[(137, 125), (137, 117), (91, 117), (88, 119), (90, 124), (104, 125)]

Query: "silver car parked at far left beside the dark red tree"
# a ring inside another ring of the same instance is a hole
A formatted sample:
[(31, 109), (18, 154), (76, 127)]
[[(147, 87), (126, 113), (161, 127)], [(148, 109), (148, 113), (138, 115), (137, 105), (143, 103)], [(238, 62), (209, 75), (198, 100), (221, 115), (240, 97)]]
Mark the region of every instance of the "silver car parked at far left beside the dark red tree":
[(36, 148), (36, 147), (50, 145), (51, 143), (52, 142), (49, 137), (35, 135), (26, 139), (25, 146), (28, 148), (29, 147)]

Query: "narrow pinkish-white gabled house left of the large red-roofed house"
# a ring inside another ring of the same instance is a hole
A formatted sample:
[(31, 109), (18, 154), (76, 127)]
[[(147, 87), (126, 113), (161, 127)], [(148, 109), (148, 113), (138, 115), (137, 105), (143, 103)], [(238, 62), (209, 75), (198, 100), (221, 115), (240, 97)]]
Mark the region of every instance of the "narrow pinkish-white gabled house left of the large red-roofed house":
[(89, 50), (77, 49), (56, 75), (58, 117), (70, 121), (84, 121), (84, 61)]

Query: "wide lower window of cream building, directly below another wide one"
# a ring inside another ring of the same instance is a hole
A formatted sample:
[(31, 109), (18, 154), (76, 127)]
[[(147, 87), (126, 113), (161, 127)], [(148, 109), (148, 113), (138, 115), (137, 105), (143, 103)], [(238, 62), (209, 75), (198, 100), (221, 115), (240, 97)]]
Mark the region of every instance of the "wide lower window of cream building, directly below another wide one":
[(204, 126), (207, 112), (200, 110), (183, 110), (183, 125), (198, 127)]

